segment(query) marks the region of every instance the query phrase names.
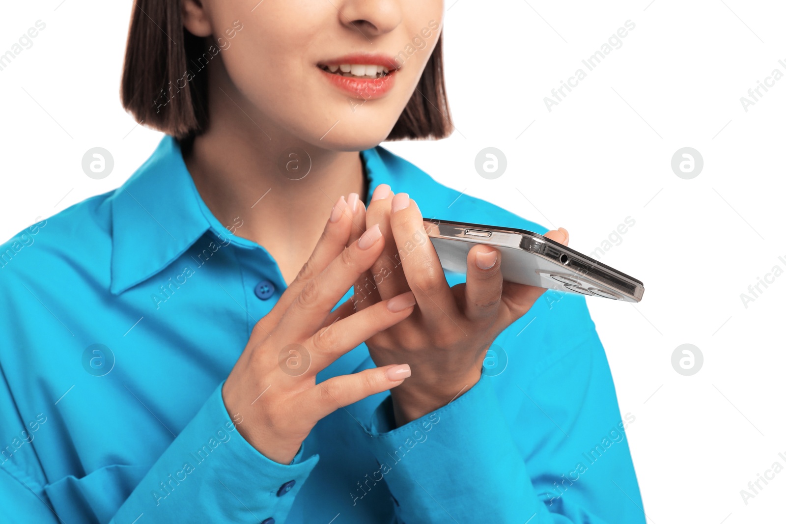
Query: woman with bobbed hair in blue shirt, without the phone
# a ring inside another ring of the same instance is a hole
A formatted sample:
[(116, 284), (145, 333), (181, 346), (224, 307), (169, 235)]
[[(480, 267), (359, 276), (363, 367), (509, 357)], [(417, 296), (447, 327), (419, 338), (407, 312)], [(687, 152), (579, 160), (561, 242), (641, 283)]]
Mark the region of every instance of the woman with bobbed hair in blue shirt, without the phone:
[(450, 133), (442, 2), (132, 16), (166, 136), (2, 246), (4, 522), (644, 522), (584, 299), (422, 216), (545, 229), (377, 147)]

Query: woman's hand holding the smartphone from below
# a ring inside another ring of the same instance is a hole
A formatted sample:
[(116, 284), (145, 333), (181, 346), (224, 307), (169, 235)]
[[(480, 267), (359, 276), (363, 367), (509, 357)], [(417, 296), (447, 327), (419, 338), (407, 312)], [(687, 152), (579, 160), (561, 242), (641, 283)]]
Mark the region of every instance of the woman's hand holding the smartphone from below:
[[(501, 253), (483, 245), (468, 253), (466, 284), (450, 288), (417, 203), (406, 193), (394, 196), (387, 185), (376, 188), (365, 223), (380, 225), (386, 242), (355, 284), (358, 312), (410, 290), (417, 299), (412, 315), (366, 340), (376, 365), (406, 361), (412, 368), (411, 378), (391, 391), (401, 425), (471, 388), (490, 344), (545, 289), (503, 282)], [(545, 236), (567, 244), (564, 229)]]

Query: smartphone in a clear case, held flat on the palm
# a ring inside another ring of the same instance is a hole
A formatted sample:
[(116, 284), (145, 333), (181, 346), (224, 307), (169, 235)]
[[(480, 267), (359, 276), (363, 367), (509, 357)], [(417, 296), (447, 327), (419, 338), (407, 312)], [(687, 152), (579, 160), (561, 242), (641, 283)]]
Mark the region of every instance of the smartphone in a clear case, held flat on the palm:
[(644, 295), (641, 280), (538, 233), (435, 218), (424, 218), (423, 226), (448, 271), (466, 273), (470, 247), (486, 244), (501, 252), (502, 278), (509, 282), (625, 302)]

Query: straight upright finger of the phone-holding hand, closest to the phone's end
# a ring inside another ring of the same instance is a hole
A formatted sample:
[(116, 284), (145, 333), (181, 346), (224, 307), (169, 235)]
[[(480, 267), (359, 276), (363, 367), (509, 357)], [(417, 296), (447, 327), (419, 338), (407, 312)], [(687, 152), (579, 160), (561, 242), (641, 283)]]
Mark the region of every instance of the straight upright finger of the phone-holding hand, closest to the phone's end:
[(423, 228), (421, 210), (406, 193), (393, 197), (391, 228), (407, 284), (415, 294), (424, 321), (441, 324), (443, 317), (448, 315), (456, 323), (459, 312), (453, 292)]

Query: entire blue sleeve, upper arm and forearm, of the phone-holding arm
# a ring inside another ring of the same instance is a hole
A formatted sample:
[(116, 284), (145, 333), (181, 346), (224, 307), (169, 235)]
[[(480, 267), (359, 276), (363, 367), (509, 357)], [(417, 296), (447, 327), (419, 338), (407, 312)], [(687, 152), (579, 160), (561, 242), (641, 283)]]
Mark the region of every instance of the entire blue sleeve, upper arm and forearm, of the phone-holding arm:
[(583, 298), (560, 302), (577, 313), (574, 331), (555, 323), (527, 340), (516, 323), (495, 341), (509, 355), (504, 372), (484, 369), (465, 394), (402, 427), (392, 429), (390, 397), (373, 412), (373, 479), (387, 482), (399, 522), (645, 522), (624, 431), (635, 417), (619, 414)]

